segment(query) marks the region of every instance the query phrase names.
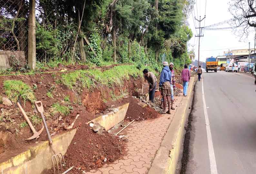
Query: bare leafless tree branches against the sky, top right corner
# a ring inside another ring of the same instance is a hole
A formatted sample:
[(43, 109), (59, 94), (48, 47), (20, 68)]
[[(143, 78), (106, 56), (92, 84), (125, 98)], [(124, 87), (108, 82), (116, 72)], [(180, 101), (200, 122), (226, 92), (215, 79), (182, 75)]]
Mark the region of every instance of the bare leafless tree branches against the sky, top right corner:
[(229, 3), (229, 11), (234, 17), (233, 24), (242, 27), (237, 30), (242, 37), (248, 36), (249, 28), (256, 27), (256, 1), (255, 0), (233, 0)]

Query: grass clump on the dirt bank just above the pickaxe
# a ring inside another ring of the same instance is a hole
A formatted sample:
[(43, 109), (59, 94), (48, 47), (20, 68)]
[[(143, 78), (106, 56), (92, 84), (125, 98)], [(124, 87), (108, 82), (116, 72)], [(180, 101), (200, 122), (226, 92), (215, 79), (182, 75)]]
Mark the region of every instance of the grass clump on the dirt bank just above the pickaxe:
[(21, 97), (25, 103), (26, 100), (34, 103), (36, 100), (34, 92), (27, 84), (20, 80), (6, 80), (4, 81), (5, 94), (12, 102), (17, 102), (18, 98)]

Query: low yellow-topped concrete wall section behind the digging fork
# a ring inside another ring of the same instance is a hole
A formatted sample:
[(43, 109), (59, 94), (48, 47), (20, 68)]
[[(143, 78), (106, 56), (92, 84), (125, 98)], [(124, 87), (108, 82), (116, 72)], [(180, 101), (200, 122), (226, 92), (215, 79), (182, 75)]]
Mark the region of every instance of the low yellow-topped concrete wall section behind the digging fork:
[[(66, 153), (76, 129), (53, 138), (53, 149), (56, 153)], [(51, 169), (53, 151), (48, 141), (44, 141), (30, 148), (8, 161), (0, 164), (0, 173), (3, 174), (40, 174), (45, 169)]]

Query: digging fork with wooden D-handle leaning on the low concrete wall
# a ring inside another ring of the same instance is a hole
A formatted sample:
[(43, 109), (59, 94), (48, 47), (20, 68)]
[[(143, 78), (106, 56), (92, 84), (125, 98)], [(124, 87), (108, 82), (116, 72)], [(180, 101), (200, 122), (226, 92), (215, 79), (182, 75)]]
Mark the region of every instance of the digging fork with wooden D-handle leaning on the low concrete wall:
[[(38, 105), (40, 104), (40, 106)], [(62, 155), (62, 153), (56, 153), (53, 149), (53, 141), (52, 141), (52, 138), (51, 138), (51, 135), (50, 135), (50, 132), (48, 130), (48, 127), (46, 125), (46, 121), (44, 119), (44, 108), (43, 108), (43, 104), (42, 104), (42, 101), (35, 101), (35, 109), (37, 110), (38, 113), (41, 114), (41, 117), (42, 117), (42, 120), (43, 120), (43, 123), (44, 123), (44, 127), (45, 127), (45, 130), (46, 130), (46, 134), (47, 134), (47, 137), (48, 137), (48, 140), (49, 140), (49, 144), (50, 144), (50, 147), (52, 149), (52, 151), (54, 152), (54, 155), (52, 156), (52, 163), (53, 163), (53, 168), (54, 168), (54, 174), (55, 174), (55, 162), (57, 164), (57, 169), (58, 169), (58, 173), (59, 173), (59, 164), (58, 164), (58, 160), (60, 161), (60, 166), (61, 166), (61, 170), (62, 170), (62, 160), (63, 160), (63, 164), (64, 164), (64, 167), (65, 167), (65, 159), (64, 159), (64, 156)], [(55, 161), (54, 161), (55, 160)]]

